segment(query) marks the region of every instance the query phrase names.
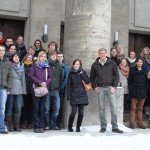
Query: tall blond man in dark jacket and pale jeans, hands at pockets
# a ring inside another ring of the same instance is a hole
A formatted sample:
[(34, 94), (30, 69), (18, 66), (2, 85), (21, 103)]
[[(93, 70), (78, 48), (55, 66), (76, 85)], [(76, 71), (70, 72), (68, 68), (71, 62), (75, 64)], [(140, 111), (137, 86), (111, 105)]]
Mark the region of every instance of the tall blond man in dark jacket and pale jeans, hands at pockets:
[(99, 50), (99, 58), (91, 67), (90, 79), (92, 87), (97, 93), (100, 113), (101, 133), (106, 131), (107, 122), (105, 117), (105, 96), (107, 96), (111, 109), (112, 131), (123, 133), (118, 129), (117, 124), (117, 104), (116, 104), (116, 87), (119, 82), (119, 73), (114, 61), (107, 57), (105, 48)]

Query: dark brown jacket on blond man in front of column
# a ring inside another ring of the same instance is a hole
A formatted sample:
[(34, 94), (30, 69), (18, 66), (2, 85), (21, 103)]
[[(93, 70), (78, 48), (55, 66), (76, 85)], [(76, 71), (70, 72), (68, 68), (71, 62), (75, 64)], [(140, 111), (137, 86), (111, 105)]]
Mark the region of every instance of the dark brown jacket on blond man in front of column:
[(107, 57), (107, 61), (102, 65), (99, 59), (97, 58), (91, 67), (90, 79), (93, 89), (105, 86), (117, 87), (119, 73), (116, 63)]

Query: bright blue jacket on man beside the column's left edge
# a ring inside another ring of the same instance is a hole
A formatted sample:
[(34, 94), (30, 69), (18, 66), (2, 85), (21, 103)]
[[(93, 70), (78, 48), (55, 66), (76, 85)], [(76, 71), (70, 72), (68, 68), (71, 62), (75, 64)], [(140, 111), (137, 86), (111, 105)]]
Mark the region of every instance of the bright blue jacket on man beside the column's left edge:
[(68, 65), (63, 62), (62, 63), (62, 84), (60, 86), (61, 93), (65, 92), (67, 86), (67, 80), (68, 80), (68, 73), (69, 73)]

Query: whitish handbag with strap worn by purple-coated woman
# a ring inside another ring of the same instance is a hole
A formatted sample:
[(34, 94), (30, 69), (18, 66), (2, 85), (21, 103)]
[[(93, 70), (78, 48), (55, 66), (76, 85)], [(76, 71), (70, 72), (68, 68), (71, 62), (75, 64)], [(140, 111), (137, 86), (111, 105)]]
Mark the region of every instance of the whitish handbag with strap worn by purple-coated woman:
[[(47, 68), (46, 68), (46, 80), (47, 80)], [(42, 97), (48, 93), (47, 87), (43, 86), (35, 87), (35, 85), (33, 84), (33, 89), (36, 97)]]

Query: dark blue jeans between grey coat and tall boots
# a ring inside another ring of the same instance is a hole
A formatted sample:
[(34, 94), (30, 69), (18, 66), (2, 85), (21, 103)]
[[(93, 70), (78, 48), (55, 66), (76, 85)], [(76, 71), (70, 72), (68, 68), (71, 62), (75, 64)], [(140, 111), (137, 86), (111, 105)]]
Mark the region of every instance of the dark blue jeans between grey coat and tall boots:
[(21, 115), (21, 108), (23, 104), (23, 95), (8, 95), (6, 103), (6, 114)]

